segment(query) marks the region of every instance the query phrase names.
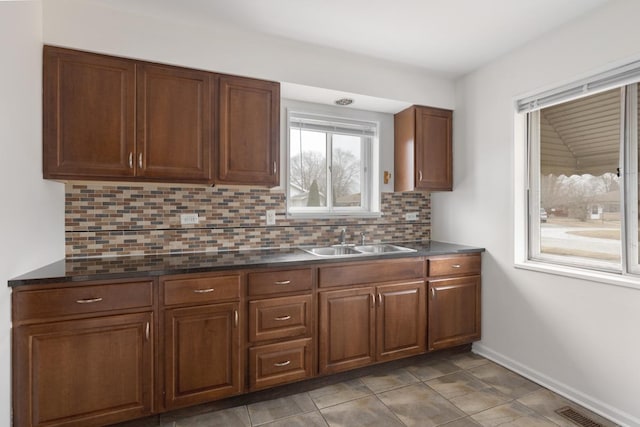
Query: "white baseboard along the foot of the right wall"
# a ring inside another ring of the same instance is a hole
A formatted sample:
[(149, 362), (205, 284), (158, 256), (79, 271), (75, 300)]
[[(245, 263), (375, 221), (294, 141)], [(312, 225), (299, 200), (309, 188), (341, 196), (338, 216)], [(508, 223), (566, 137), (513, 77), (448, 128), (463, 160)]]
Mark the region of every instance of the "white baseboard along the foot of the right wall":
[(472, 351), (479, 354), (480, 356), (486, 357), (493, 362), (496, 362), (499, 365), (504, 366), (505, 368), (517, 372), (523, 377), (528, 378), (531, 381), (534, 381), (548, 388), (549, 390), (576, 402), (579, 405), (582, 405), (590, 411), (593, 411), (596, 414), (599, 414), (613, 421), (614, 423), (627, 427), (640, 427), (639, 418), (617, 408), (614, 408), (611, 405), (598, 399), (594, 399), (592, 396), (588, 396), (580, 392), (579, 390), (568, 386), (567, 384), (560, 383), (553, 378), (550, 378), (547, 375), (536, 371), (535, 369), (531, 369), (528, 366), (525, 366), (501, 353), (492, 350), (491, 348), (484, 346), (481, 342), (474, 343)]

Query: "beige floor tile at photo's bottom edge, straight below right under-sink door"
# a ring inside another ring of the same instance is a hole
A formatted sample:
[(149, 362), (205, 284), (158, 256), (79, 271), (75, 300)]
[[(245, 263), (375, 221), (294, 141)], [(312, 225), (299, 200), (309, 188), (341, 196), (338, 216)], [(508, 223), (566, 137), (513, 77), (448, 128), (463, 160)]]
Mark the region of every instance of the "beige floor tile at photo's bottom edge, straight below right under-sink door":
[(422, 383), (381, 393), (378, 398), (409, 427), (438, 426), (466, 416)]

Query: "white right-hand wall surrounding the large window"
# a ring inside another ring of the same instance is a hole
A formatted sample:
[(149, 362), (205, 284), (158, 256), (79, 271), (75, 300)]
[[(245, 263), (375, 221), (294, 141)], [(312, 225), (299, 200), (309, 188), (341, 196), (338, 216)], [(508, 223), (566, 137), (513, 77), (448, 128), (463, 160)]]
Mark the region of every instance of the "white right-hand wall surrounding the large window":
[(626, 425), (640, 425), (640, 290), (514, 268), (513, 102), (639, 59), (638, 16), (610, 2), (461, 79), (454, 191), (432, 195), (434, 239), (487, 248), (476, 351)]

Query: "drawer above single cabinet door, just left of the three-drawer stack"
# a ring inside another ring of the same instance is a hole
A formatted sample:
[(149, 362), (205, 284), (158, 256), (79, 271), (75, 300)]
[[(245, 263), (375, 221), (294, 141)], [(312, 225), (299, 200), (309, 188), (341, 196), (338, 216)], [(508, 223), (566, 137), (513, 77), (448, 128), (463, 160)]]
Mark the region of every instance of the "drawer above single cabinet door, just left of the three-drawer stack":
[(163, 280), (164, 304), (197, 304), (240, 298), (240, 275)]

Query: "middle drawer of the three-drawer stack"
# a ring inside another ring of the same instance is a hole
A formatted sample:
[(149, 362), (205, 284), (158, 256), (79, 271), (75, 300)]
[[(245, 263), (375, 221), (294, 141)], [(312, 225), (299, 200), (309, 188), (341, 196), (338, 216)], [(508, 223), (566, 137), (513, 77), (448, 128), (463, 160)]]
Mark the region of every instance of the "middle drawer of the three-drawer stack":
[(249, 303), (249, 340), (267, 341), (309, 334), (311, 295), (271, 298)]

